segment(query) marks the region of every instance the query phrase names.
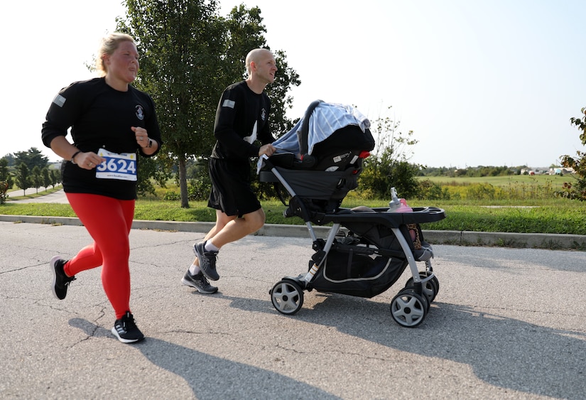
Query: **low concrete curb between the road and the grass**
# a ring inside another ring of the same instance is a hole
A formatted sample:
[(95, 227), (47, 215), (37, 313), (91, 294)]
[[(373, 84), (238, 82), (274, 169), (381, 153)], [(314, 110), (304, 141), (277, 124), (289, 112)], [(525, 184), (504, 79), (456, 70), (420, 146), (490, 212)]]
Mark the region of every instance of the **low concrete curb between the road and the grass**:
[[(29, 224), (82, 226), (77, 217), (33, 217), (30, 215), (0, 215), (2, 222), (25, 222)], [(176, 222), (135, 220), (132, 229), (153, 229), (161, 231), (207, 233), (214, 222)], [(318, 237), (325, 237), (330, 227), (313, 227)], [(307, 237), (305, 225), (267, 224), (255, 236)], [(544, 234), (513, 232), (469, 232), (423, 230), (425, 241), (431, 244), (452, 244), (455, 246), (512, 247), (550, 250), (586, 251), (586, 235)]]

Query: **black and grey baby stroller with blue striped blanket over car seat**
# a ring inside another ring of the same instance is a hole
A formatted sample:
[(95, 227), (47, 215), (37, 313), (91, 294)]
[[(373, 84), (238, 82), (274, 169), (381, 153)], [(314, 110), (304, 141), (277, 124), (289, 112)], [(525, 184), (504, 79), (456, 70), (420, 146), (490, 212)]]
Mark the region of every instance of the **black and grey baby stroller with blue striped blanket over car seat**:
[[(259, 180), (286, 189), (286, 217), (301, 217), (313, 239), (308, 272), (286, 276), (269, 292), (279, 313), (293, 315), (303, 306), (304, 291), (371, 298), (389, 289), (406, 266), (411, 278), (391, 301), (399, 325), (414, 328), (425, 319), (440, 284), (431, 266), (433, 249), (420, 223), (445, 218), (436, 207), (340, 207), (357, 187), (362, 162), (374, 148), (369, 121), (356, 109), (315, 101), (287, 134), (273, 143), (278, 151), (259, 160)], [(278, 193), (281, 193), (278, 190)], [(313, 225), (332, 224), (325, 239)], [(419, 271), (417, 261), (425, 262)]]

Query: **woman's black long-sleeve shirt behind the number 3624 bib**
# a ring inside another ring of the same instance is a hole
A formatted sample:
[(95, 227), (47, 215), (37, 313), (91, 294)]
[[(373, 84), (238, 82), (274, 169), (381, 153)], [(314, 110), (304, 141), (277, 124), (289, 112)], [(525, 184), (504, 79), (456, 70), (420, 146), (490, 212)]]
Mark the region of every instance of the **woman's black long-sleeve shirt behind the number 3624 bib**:
[[(53, 99), (43, 123), (43, 144), (50, 147), (57, 136), (67, 136), (71, 128), (73, 144), (80, 151), (105, 148), (114, 153), (142, 153), (131, 126), (146, 129), (148, 137), (161, 149), (161, 131), (153, 99), (129, 85), (120, 92), (107, 85), (104, 77), (74, 82), (63, 88)], [(96, 169), (87, 170), (63, 161), (63, 188), (66, 193), (106, 195), (119, 200), (136, 198), (136, 181), (99, 179)]]

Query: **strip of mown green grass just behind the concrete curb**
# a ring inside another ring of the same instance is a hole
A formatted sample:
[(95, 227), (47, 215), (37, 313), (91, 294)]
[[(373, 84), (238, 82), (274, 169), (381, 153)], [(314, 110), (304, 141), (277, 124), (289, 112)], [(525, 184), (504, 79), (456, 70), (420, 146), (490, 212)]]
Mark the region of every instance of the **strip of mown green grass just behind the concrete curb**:
[[(40, 193), (50, 193), (52, 190)], [(14, 196), (10, 199), (31, 198)], [(367, 205), (384, 207), (386, 200), (362, 200), (347, 196), (342, 207)], [(550, 234), (586, 234), (586, 202), (558, 198), (538, 200), (408, 200), (413, 207), (433, 206), (443, 208), (444, 220), (423, 224), (423, 229), (455, 230), (472, 232), (519, 232)], [(163, 201), (141, 198), (136, 202), (136, 220), (166, 221), (215, 221), (215, 211), (207, 202), (190, 201), (189, 208), (181, 208), (179, 201)], [(303, 225), (298, 217), (285, 218), (285, 206), (278, 200), (262, 201), (268, 224)], [(67, 204), (15, 203), (0, 205), (0, 214), (35, 215), (51, 217), (75, 217)]]

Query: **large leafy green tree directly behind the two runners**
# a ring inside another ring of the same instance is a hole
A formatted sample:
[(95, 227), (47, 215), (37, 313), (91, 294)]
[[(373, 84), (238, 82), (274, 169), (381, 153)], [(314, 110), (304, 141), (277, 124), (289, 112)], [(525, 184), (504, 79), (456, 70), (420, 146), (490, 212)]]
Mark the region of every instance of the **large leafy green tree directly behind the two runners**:
[[(234, 7), (228, 18), (222, 18), (214, 0), (126, 0), (124, 4), (126, 16), (119, 19), (118, 30), (136, 40), (141, 70), (135, 85), (153, 97), (165, 141), (156, 161), (165, 171), (178, 166), (181, 207), (189, 207), (186, 164), (190, 159), (207, 160), (222, 90), (244, 79), (246, 53), (265, 45), (260, 10)], [(284, 53), (276, 55), (281, 57), (283, 74), (279, 85), (287, 85), (279, 92), (282, 104), (291, 104), (286, 92), (298, 76), (286, 64)], [(286, 129), (292, 124), (278, 101), (275, 109), (282, 116), (271, 120), (277, 129)], [(207, 163), (200, 172), (207, 178)]]

